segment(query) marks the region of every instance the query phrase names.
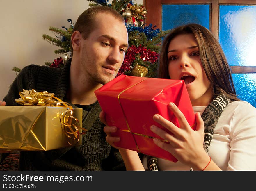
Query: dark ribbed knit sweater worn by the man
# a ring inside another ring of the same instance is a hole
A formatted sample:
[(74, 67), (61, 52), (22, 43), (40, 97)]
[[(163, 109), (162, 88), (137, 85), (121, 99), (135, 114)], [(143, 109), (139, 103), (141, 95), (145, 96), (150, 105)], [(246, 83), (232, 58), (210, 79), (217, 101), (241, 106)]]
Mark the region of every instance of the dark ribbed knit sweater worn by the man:
[[(69, 87), (71, 59), (63, 69), (48, 66), (29, 65), (15, 78), (7, 96), (6, 105), (17, 105), (22, 89), (47, 91), (65, 99)], [(70, 103), (71, 104), (71, 103)], [(71, 104), (74, 108), (73, 104)], [(82, 137), (82, 145), (50, 151), (20, 152), (19, 170), (125, 170), (122, 157), (117, 149), (105, 139), (104, 124), (99, 120), (101, 108), (93, 104), (89, 111), (83, 110), (83, 127), (88, 131)], [(1, 161), (6, 157), (1, 154)]]

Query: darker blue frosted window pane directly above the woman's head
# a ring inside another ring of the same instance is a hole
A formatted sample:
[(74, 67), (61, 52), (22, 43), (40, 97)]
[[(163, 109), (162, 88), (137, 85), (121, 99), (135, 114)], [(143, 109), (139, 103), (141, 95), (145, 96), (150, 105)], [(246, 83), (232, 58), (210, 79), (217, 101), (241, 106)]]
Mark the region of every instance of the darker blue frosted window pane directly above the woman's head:
[(209, 29), (209, 4), (189, 5), (162, 5), (162, 30), (168, 30), (177, 26), (197, 23)]

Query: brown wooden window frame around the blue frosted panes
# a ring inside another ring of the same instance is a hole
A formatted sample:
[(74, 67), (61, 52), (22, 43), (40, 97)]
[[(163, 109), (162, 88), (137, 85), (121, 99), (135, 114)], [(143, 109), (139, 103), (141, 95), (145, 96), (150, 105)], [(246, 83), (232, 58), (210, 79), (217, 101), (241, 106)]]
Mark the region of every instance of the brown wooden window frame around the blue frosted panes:
[[(219, 5), (221, 4), (241, 4), (241, 5), (256, 5), (256, 0), (143, 0), (143, 5), (147, 9), (146, 24), (156, 25), (162, 29), (162, 4), (210, 4), (210, 30), (218, 38), (219, 32)], [(256, 66), (230, 66), (232, 73), (256, 73)]]

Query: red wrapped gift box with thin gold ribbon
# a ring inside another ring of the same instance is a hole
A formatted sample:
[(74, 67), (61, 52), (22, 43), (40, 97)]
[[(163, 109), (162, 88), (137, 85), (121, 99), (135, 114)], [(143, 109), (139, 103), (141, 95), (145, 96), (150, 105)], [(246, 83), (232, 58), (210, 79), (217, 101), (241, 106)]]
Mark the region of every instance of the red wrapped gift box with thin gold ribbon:
[(159, 114), (179, 127), (177, 118), (168, 108), (173, 102), (195, 129), (195, 114), (184, 80), (120, 75), (94, 93), (105, 112), (107, 124), (118, 128), (111, 134), (121, 139), (115, 142), (116, 146), (177, 162), (171, 153), (154, 144), (153, 138), (163, 139), (153, 133), (150, 126), (156, 125), (172, 134), (152, 119)]

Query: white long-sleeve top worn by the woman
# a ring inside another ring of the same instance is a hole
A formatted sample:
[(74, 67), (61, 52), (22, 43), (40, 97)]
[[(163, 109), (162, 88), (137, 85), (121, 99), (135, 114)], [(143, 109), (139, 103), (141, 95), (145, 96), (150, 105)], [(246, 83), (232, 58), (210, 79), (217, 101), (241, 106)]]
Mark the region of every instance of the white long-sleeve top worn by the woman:
[[(206, 106), (193, 107), (202, 115)], [(228, 104), (214, 129), (209, 156), (222, 170), (256, 170), (256, 108), (246, 101)], [(147, 169), (146, 159), (143, 165)], [(158, 159), (159, 170), (189, 170), (190, 167)]]

